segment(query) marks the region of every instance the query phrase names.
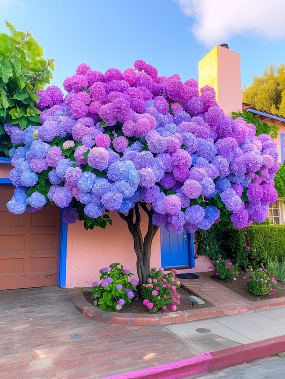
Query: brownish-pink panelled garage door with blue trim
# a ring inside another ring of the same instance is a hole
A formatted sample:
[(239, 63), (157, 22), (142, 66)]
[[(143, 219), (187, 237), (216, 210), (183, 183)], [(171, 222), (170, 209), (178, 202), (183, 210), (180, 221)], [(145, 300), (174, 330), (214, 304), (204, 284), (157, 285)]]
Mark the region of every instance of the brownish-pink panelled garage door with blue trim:
[(60, 211), (14, 215), (6, 207), (12, 195), (12, 186), (0, 186), (0, 290), (56, 285)]

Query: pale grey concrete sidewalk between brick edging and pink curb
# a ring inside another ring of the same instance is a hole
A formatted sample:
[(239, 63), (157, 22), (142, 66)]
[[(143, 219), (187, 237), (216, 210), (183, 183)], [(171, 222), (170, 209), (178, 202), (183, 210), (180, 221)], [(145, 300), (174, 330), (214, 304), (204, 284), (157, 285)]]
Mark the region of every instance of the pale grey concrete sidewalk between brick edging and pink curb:
[(198, 355), (285, 335), (285, 308), (169, 325), (167, 328)]

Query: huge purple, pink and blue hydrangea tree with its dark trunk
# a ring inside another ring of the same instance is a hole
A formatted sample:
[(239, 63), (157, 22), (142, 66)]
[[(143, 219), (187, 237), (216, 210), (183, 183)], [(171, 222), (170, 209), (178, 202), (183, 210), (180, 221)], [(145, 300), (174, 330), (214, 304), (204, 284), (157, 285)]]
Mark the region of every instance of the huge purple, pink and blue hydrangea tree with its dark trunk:
[(212, 88), (199, 93), (196, 81), (159, 77), (139, 60), (123, 73), (80, 64), (64, 89), (65, 98), (55, 87), (38, 91), (42, 126), (6, 125), (16, 187), (9, 211), (52, 203), (86, 229), (105, 228), (117, 211), (134, 239), (140, 283), (159, 226), (194, 233), (220, 219), (236, 228), (266, 219), (276, 201), (275, 142), (225, 116)]

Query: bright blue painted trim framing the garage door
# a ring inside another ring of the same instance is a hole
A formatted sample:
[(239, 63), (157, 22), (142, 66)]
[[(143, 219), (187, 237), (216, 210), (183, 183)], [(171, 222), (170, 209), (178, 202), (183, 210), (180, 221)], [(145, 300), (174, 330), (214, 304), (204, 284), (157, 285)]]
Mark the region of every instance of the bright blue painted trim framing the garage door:
[[(3, 162), (0, 162), (0, 163), (3, 163)], [(9, 178), (0, 178), (0, 186), (1, 185), (12, 185), (12, 182)], [(61, 211), (57, 283), (60, 287), (63, 287), (63, 288), (65, 288), (65, 285), (66, 285), (67, 231), (68, 231), (68, 226), (62, 219), (62, 211)]]

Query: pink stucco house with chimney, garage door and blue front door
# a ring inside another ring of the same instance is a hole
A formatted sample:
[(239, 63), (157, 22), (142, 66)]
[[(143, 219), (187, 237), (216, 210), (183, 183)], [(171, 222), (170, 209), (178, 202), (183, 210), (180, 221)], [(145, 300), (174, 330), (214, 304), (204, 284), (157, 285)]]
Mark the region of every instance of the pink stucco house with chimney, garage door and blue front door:
[[(215, 46), (198, 67), (199, 86), (216, 89), (217, 101), (225, 113), (240, 110), (239, 54)], [(283, 141), (283, 136), (280, 138)], [(98, 279), (99, 269), (112, 262), (122, 263), (136, 273), (133, 239), (127, 224), (116, 213), (110, 214), (112, 226), (93, 231), (86, 231), (82, 221), (67, 226), (54, 206), (20, 216), (9, 213), (6, 203), (13, 189), (8, 178), (9, 162), (0, 158), (0, 289), (87, 287)], [(142, 219), (142, 225), (145, 229), (146, 219)], [(182, 273), (209, 271), (209, 260), (196, 256), (194, 239), (187, 232), (172, 235), (160, 230), (153, 240), (151, 266), (176, 267)]]

